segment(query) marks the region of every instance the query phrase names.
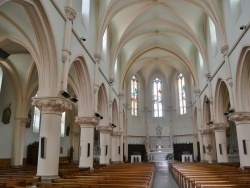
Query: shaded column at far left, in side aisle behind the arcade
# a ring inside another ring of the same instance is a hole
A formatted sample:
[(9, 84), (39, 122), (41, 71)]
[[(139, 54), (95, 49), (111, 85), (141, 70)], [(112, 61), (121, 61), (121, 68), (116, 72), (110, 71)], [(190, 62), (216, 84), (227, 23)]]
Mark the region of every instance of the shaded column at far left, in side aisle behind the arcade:
[(15, 118), (11, 158), (12, 167), (21, 167), (23, 165), (25, 127), (28, 122), (30, 120), (27, 118)]

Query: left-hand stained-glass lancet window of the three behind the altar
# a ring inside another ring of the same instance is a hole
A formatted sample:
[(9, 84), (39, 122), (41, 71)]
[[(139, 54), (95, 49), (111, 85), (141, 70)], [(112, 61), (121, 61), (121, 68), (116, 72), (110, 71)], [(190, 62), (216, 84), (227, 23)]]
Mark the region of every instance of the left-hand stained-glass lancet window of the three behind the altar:
[(137, 116), (138, 108), (138, 79), (133, 76), (131, 79), (131, 106), (132, 106), (132, 116)]

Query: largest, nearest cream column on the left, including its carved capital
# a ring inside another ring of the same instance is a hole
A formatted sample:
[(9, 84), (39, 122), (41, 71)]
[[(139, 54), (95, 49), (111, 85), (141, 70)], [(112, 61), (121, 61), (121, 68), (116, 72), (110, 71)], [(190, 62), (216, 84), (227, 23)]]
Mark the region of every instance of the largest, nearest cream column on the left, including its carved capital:
[(61, 117), (72, 104), (61, 97), (35, 97), (32, 105), (41, 112), (37, 176), (42, 181), (59, 178)]

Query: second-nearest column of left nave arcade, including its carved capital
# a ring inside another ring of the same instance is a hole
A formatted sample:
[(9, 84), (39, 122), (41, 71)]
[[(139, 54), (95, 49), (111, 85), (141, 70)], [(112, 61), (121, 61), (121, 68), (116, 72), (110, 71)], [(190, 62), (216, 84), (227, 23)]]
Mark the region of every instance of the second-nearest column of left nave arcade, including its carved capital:
[(76, 117), (81, 127), (79, 167), (93, 169), (94, 128), (99, 120), (95, 117)]

